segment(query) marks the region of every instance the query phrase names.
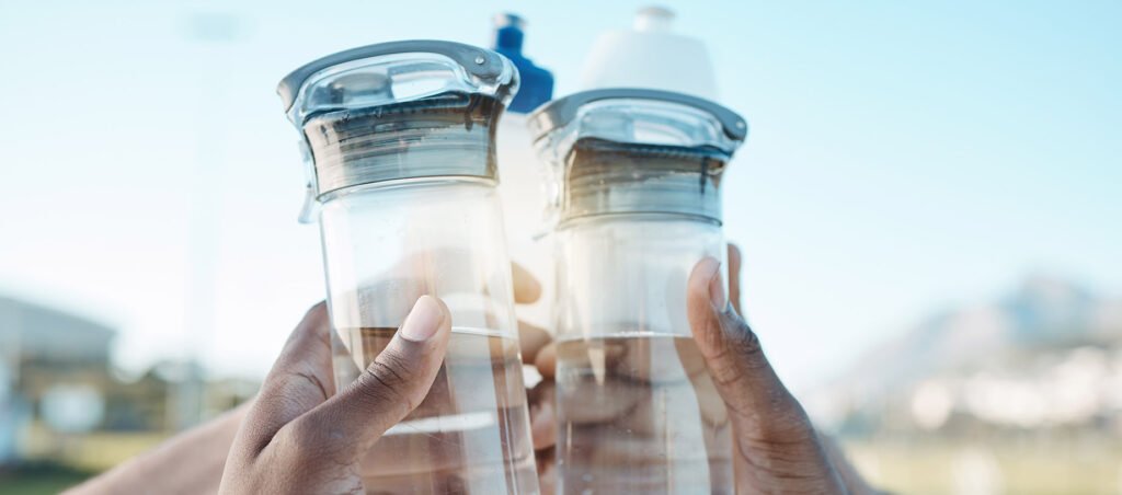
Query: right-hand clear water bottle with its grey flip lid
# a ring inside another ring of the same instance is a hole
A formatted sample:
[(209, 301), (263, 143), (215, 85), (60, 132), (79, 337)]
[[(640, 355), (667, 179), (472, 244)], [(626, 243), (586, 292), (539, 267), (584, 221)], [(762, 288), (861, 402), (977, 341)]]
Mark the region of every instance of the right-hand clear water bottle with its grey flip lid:
[(530, 125), (555, 192), (560, 493), (734, 493), (686, 288), (701, 258), (725, 258), (720, 177), (746, 122), (681, 93), (609, 89)]

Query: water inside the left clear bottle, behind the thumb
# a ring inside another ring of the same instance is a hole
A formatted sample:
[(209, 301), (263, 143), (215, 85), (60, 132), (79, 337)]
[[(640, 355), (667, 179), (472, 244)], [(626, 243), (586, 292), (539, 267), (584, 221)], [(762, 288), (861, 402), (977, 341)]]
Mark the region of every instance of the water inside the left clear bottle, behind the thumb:
[[(396, 331), (337, 329), (335, 383), (351, 383)], [(365, 459), (367, 493), (537, 493), (525, 397), (517, 339), (453, 327), (429, 395)]]

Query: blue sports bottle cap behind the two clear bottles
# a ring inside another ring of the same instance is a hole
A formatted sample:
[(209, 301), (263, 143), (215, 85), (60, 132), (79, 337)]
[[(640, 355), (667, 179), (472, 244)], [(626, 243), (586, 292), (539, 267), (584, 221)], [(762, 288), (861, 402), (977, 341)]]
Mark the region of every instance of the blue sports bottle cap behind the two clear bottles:
[(495, 43), (493, 48), (511, 59), (518, 68), (522, 84), (507, 110), (528, 113), (553, 98), (553, 74), (534, 65), (522, 54), (526, 21), (514, 13), (495, 16)]

